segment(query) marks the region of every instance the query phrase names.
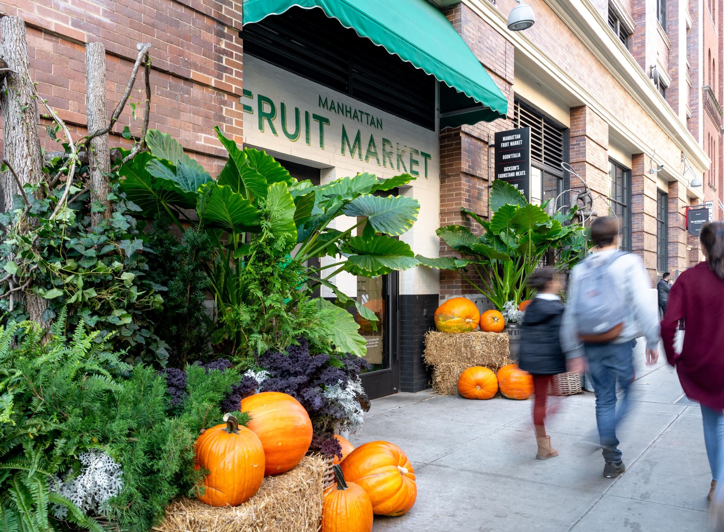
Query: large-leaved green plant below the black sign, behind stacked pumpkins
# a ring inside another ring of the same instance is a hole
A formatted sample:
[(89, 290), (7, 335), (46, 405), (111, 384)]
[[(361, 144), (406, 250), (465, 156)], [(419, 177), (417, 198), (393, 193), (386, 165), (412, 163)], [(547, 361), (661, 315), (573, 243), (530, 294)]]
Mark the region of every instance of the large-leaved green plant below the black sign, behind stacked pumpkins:
[(517, 306), (531, 296), (526, 279), (551, 250), (562, 268), (575, 263), (585, 247), (582, 227), (569, 223), (575, 211), (549, 216), (544, 207), (528, 203), (513, 185), (496, 180), (490, 194), (489, 221), (461, 209), (481, 225), (482, 235), (473, 235), (461, 225), (440, 227), (437, 235), (460, 256), (417, 258), (425, 266), (460, 271), (499, 311), (508, 301)]

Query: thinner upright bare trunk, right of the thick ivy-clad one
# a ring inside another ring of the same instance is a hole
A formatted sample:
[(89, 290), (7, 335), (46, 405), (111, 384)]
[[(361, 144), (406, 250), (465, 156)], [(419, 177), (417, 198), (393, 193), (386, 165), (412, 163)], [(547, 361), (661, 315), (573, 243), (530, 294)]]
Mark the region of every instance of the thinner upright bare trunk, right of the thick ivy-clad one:
[[(108, 124), (106, 113), (106, 48), (103, 43), (85, 45), (85, 116), (88, 133), (102, 130)], [(111, 217), (111, 202), (107, 199), (111, 191), (107, 176), (111, 172), (111, 156), (108, 149), (108, 133), (98, 135), (90, 141), (88, 151), (90, 168), (90, 200), (100, 201), (106, 207), (104, 212), (90, 214), (93, 225)]]

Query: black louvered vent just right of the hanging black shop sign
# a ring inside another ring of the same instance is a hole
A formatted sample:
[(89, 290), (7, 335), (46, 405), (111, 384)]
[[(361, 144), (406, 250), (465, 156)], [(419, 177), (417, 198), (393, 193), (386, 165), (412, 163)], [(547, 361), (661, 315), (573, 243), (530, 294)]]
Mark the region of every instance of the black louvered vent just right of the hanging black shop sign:
[(560, 164), (565, 160), (565, 130), (518, 100), (515, 100), (513, 124), (531, 128), (531, 161), (562, 174)]

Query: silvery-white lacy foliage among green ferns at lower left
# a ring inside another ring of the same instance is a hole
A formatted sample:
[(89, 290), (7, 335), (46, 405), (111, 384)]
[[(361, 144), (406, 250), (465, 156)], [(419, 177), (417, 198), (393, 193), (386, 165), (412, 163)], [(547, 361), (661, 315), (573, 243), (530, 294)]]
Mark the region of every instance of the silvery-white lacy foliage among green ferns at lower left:
[[(102, 515), (104, 504), (123, 489), (123, 471), (121, 465), (102, 451), (80, 453), (78, 476), (69, 472), (64, 480), (57, 475), (51, 477), (50, 490), (70, 499), (85, 515)], [(62, 504), (53, 505), (56, 518), (63, 519), (68, 509)]]

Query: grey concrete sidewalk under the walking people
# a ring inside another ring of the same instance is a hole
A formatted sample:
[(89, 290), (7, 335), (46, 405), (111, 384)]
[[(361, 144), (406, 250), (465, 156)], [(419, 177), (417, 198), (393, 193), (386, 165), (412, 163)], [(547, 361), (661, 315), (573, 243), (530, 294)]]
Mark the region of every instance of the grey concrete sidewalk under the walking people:
[[(660, 351), (662, 352), (662, 351)], [(375, 518), (374, 531), (703, 532), (710, 470), (699, 407), (673, 368), (636, 350), (634, 406), (618, 432), (626, 473), (603, 478), (594, 395), (565, 397), (547, 424), (560, 456), (536, 460), (531, 401), (395, 394), (372, 402), (350, 440), (399, 445), (413, 462), (415, 507)], [(693, 405), (693, 406), (692, 406)]]

